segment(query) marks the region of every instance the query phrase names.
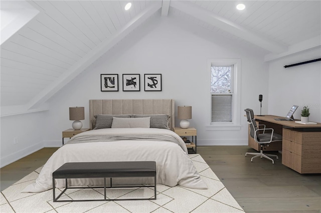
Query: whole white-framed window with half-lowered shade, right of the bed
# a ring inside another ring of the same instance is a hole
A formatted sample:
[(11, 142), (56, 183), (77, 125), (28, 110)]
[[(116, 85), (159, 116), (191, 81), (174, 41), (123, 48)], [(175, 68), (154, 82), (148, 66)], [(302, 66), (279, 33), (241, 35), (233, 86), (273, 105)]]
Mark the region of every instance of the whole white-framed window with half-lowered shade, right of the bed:
[(208, 59), (208, 67), (211, 73), (209, 127), (240, 129), (241, 59)]

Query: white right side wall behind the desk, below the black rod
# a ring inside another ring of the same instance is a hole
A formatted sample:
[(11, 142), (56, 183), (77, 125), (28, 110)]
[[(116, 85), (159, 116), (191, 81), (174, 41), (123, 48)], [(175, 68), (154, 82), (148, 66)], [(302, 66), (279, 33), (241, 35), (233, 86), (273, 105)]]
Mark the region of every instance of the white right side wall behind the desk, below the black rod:
[(310, 121), (321, 122), (321, 62), (284, 68), (284, 65), (321, 57), (321, 49), (280, 58), (269, 63), (270, 114), (285, 116), (292, 105), (298, 105), (294, 118), (301, 119), (303, 105), (310, 108)]

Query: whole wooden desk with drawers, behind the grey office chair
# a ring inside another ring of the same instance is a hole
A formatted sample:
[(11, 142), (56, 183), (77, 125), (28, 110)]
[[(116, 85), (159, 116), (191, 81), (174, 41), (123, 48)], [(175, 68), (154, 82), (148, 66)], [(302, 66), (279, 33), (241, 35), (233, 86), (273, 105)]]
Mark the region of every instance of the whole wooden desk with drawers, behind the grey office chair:
[[(275, 115), (255, 115), (254, 118), (257, 124), (265, 124), (267, 128), (282, 134), (282, 143), (270, 144), (272, 150), (282, 150), (282, 164), (299, 173), (321, 173), (321, 123), (301, 124), (275, 120), (284, 118)], [(257, 147), (258, 143), (255, 143)], [(250, 139), (249, 146), (254, 146)]]

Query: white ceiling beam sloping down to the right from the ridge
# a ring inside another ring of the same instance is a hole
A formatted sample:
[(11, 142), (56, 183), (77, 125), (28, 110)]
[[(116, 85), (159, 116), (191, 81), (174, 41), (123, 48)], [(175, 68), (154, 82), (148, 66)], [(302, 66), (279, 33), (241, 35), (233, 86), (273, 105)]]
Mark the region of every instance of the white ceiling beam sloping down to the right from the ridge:
[(236, 24), (222, 16), (219, 16), (199, 5), (186, 1), (171, 1), (171, 6), (181, 10), (197, 19), (216, 26), (224, 31), (243, 38), (263, 49), (272, 53), (280, 53), (287, 51), (287, 46), (277, 43), (271, 39), (265, 38), (263, 35), (257, 34), (239, 24)]

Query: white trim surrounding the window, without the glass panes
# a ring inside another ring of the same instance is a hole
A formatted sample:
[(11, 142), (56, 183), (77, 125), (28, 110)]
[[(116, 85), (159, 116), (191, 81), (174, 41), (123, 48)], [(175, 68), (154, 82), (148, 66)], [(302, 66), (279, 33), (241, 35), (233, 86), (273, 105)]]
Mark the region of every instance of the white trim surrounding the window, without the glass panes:
[[(211, 66), (212, 65), (227, 65), (233, 64), (233, 118), (232, 122), (212, 122), (212, 93), (209, 101), (209, 116), (206, 130), (240, 130), (241, 129), (241, 58), (209, 58), (207, 59), (207, 69), (209, 70), (209, 79), (211, 81)], [(211, 91), (211, 83), (209, 83), (209, 91)]]

